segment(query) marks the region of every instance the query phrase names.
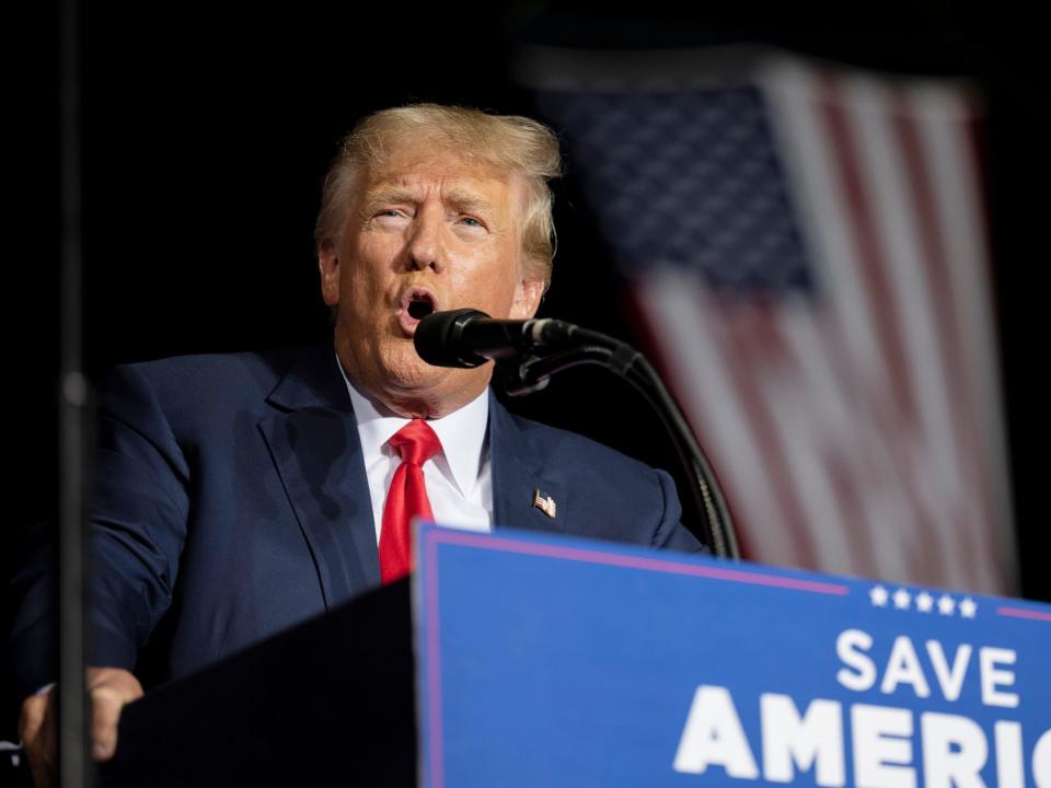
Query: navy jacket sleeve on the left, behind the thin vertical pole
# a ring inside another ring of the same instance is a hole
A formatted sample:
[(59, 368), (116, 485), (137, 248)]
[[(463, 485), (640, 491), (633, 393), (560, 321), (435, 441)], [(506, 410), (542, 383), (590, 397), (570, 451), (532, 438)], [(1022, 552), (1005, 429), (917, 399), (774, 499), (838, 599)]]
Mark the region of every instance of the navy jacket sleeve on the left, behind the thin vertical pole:
[[(88, 663), (131, 670), (168, 609), (186, 535), (187, 464), (149, 385), (131, 367), (100, 387), (86, 547)], [(54, 526), (28, 531), (11, 582), (5, 665), (12, 699), (55, 681)]]

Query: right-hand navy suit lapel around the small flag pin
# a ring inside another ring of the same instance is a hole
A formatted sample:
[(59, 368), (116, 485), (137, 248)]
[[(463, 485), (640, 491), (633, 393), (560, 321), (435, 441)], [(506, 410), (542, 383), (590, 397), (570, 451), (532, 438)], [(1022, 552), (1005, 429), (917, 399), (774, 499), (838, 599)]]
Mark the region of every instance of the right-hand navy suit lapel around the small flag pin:
[[(564, 533), (573, 517), (566, 490), (543, 470), (543, 455), (507, 409), (489, 395), (489, 457), (493, 474), (493, 525)], [(556, 503), (551, 518), (533, 506), (536, 490)]]

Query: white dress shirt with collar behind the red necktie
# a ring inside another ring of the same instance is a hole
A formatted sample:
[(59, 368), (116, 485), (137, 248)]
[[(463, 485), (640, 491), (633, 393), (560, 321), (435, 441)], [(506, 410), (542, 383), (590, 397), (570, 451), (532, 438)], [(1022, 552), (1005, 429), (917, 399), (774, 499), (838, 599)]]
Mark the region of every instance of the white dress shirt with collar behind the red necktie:
[[(337, 359), (338, 360), (338, 359)], [(339, 364), (343, 372), (343, 364)], [(376, 542), (383, 526), (383, 505), (394, 472), (402, 464), (388, 441), (409, 419), (384, 416), (371, 399), (359, 392), (343, 372), (350, 404), (358, 420), (358, 437), (365, 455), (365, 472), (372, 498)], [(486, 389), (459, 410), (427, 424), (441, 441), (441, 452), (424, 463), (427, 499), (441, 525), (467, 531), (493, 530), (493, 478), (489, 473), (489, 390)]]

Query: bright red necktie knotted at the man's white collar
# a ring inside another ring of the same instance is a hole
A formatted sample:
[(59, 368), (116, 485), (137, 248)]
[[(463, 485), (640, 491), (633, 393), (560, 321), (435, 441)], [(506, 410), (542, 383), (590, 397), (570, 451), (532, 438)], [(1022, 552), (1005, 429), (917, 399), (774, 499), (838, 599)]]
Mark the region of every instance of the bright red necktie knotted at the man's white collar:
[(441, 451), (441, 441), (423, 419), (413, 419), (388, 441), (402, 457), (383, 505), (380, 529), (380, 577), (393, 582), (412, 571), (408, 524), (415, 517), (432, 520), (423, 464)]

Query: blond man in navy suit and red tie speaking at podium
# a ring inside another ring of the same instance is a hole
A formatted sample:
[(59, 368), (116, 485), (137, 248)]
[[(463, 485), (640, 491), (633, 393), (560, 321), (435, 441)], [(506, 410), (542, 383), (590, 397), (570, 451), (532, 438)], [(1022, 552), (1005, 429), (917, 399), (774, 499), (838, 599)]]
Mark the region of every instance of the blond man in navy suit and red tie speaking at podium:
[[(490, 364), (431, 367), (415, 351), (435, 311), (533, 316), (558, 170), (554, 136), (527, 118), (377, 113), (345, 140), (316, 227), (332, 344), (114, 372), (90, 537), (97, 758), (142, 694), (137, 660), (151, 681), (173, 679), (399, 579), (409, 514), (700, 548), (667, 474), (511, 416), (490, 396)], [(23, 641), (48, 626), (21, 621)], [(19, 676), (25, 692), (49, 680)], [(22, 710), (43, 780), (53, 706), (42, 692)]]

